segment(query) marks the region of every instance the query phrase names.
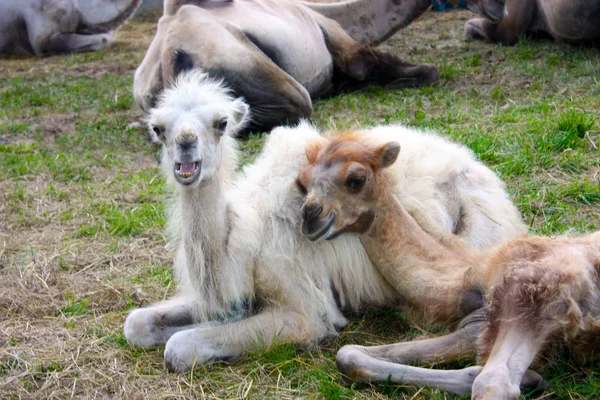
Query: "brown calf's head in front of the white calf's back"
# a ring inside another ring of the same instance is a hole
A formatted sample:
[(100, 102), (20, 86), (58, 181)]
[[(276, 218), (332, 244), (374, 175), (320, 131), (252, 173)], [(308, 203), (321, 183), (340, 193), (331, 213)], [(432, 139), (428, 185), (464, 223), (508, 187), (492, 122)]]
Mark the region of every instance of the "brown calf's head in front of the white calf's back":
[(302, 233), (319, 240), (344, 232), (367, 232), (385, 185), (382, 169), (392, 165), (399, 152), (397, 142), (370, 146), (355, 135), (310, 143), (306, 148), (308, 165), (297, 180), (300, 190), (306, 192)]

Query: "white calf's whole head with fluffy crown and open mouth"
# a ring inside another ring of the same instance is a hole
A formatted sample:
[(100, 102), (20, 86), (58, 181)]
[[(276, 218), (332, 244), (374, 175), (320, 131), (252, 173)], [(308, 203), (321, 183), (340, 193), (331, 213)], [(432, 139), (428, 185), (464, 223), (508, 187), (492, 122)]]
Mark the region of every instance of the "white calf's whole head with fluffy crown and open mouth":
[(234, 99), (221, 82), (193, 71), (177, 78), (150, 110), (149, 134), (162, 143), (163, 167), (175, 181), (190, 186), (213, 179), (224, 151), (234, 151), (232, 136), (247, 120), (248, 105)]

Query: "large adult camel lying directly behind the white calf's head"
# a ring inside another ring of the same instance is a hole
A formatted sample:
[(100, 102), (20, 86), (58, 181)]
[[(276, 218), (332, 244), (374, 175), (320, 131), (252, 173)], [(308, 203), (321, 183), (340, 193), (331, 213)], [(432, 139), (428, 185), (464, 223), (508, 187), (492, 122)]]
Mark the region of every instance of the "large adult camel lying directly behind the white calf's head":
[[(181, 71), (200, 68), (245, 98), (252, 128), (267, 130), (309, 117), (311, 98), (372, 84), (430, 83), (438, 78), (432, 65), (409, 64), (369, 47), (430, 5), (430, 0), (166, 0), (135, 73), (135, 101), (149, 111)], [(468, 0), (467, 7), (499, 19), (504, 3)]]

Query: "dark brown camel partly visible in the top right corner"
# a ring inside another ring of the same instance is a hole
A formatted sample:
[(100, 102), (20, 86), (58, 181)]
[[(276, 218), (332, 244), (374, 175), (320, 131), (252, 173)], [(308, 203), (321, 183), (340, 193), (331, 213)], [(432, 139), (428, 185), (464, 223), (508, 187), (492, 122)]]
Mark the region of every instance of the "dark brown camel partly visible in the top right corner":
[(566, 43), (600, 40), (600, 0), (506, 0), (502, 21), (477, 18), (465, 24), (472, 39), (515, 44), (520, 36), (549, 35)]

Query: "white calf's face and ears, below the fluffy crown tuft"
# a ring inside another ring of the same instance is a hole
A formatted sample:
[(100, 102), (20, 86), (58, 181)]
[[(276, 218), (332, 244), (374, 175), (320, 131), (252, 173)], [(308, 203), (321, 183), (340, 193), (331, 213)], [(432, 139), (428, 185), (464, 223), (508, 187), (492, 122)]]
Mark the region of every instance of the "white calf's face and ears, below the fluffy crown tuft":
[(159, 105), (150, 112), (149, 133), (162, 143), (163, 162), (177, 183), (199, 184), (214, 178), (222, 158), (221, 139), (237, 133), (247, 111), (239, 99), (191, 107)]

